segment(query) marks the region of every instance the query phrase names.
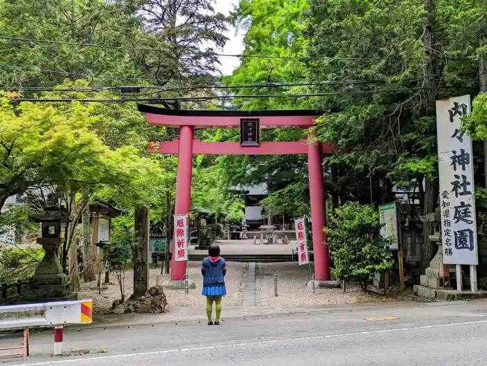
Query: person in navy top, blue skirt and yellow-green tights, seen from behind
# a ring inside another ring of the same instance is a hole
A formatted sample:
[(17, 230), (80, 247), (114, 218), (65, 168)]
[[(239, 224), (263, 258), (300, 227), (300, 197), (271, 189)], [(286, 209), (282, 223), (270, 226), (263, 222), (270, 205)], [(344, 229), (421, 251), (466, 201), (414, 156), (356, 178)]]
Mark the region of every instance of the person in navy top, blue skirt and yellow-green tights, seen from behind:
[(207, 296), (207, 317), (208, 325), (213, 325), (211, 313), (213, 312), (213, 302), (215, 302), (215, 325), (220, 325), (221, 297), (227, 294), (225, 288), (225, 275), (227, 265), (223, 257), (220, 257), (220, 247), (211, 244), (208, 250), (208, 257), (201, 262), (201, 274), (203, 276), (202, 295)]

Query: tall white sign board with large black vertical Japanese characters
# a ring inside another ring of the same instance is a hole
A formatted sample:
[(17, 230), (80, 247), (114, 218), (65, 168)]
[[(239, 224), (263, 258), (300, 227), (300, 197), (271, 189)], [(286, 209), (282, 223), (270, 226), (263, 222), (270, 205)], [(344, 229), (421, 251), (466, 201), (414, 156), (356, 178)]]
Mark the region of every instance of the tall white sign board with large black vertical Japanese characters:
[(443, 263), (479, 264), (472, 140), (460, 131), (470, 95), (436, 101)]

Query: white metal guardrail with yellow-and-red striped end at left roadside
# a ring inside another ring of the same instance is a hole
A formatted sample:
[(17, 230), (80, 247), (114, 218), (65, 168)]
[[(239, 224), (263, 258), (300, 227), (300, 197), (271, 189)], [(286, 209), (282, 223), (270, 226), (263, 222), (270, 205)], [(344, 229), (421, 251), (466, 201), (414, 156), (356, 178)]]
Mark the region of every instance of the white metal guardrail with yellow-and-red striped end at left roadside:
[(22, 347), (2, 348), (22, 349), (22, 353), (0, 353), (0, 357), (29, 355), (29, 328), (54, 328), (54, 356), (63, 352), (63, 326), (67, 324), (90, 324), (93, 321), (93, 301), (59, 301), (0, 306), (0, 331), (24, 329)]

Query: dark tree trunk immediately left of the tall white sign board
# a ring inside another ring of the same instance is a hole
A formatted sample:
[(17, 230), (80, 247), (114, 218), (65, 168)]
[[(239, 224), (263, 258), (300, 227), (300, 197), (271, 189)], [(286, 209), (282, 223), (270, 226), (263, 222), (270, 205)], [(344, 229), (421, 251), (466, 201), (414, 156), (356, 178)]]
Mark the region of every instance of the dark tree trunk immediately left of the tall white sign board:
[[(435, 211), (438, 202), (438, 180), (430, 180), (428, 177), (425, 179), (424, 184), (424, 203), (423, 214), (429, 214)], [(424, 270), (428, 268), (429, 262), (436, 254), (433, 250), (433, 246), (429, 240), (429, 236), (433, 234), (434, 224), (429, 222), (423, 223), (423, 247), (421, 256), (421, 268)]]

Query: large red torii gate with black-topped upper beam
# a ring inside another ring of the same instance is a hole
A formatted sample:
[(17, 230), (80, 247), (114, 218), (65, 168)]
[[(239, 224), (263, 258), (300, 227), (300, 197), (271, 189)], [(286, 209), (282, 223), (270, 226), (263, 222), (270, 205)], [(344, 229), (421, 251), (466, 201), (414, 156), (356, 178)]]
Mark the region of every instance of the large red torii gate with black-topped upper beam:
[[(179, 128), (179, 140), (154, 143), (161, 154), (177, 154), (175, 214), (188, 214), (191, 209), (191, 174), (193, 154), (308, 154), (310, 203), (314, 253), (314, 279), (330, 279), (328, 247), (324, 245), (326, 225), (323, 154), (332, 154), (329, 145), (316, 142), (315, 136), (292, 142), (262, 142), (257, 146), (242, 146), (238, 142), (206, 142), (194, 140), (195, 128), (240, 128), (241, 120), (259, 120), (263, 128), (310, 128), (317, 117), (314, 111), (190, 111), (139, 105), (151, 125)], [(154, 144), (151, 149), (154, 150)], [(175, 253), (175, 250), (173, 250)], [(183, 281), (186, 262), (171, 261), (171, 281)], [(177, 284), (174, 284), (177, 287)], [(182, 284), (180, 284), (183, 286)]]

